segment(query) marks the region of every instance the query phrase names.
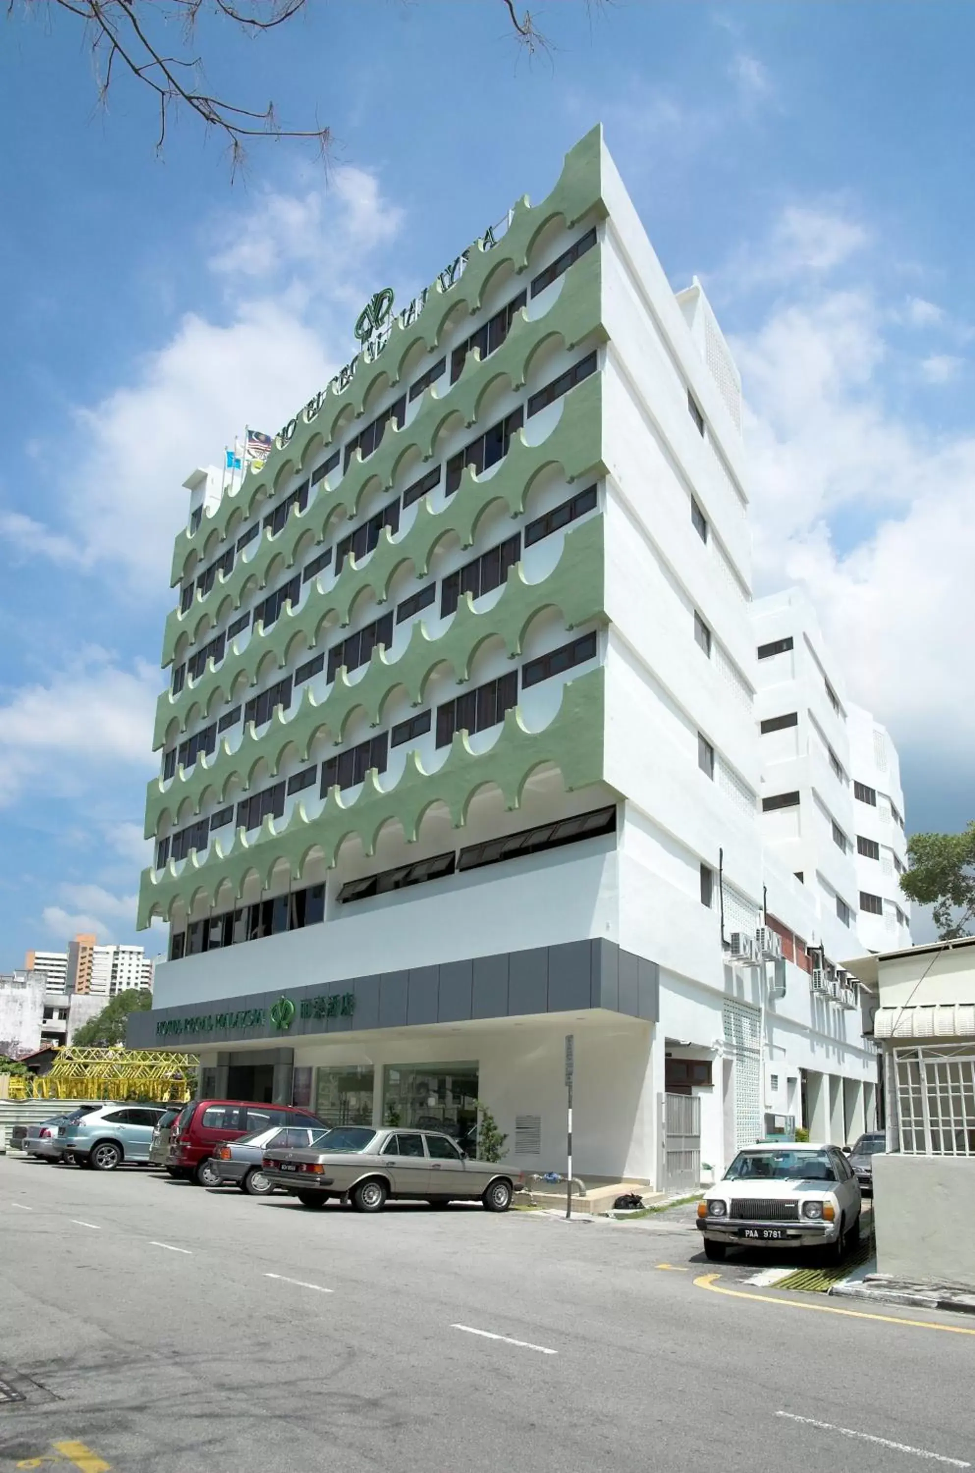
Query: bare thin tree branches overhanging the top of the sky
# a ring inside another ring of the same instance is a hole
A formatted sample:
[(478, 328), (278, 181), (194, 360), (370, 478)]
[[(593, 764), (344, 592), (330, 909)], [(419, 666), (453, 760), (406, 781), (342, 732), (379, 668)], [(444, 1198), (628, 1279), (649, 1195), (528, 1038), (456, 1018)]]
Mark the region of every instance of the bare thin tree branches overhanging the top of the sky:
[[(200, 18), (227, 22), (250, 35), (274, 31), (293, 21), (309, 0), (46, 0), (49, 18), (71, 16), (84, 31), (94, 62), (99, 102), (108, 102), (116, 74), (127, 74), (153, 96), (159, 134), (156, 152), (166, 141), (169, 113), (183, 108), (208, 133), (230, 146), (233, 166), (243, 162), (249, 138), (308, 138), (323, 155), (331, 143), (328, 127), (284, 128), (272, 102), (262, 109), (242, 108), (217, 97), (206, 85), (203, 57), (194, 55), (194, 29)], [(546, 49), (530, 10), (515, 9), (514, 0), (499, 0), (508, 13), (513, 35), (530, 56)], [(588, 0), (599, 3), (599, 0)], [(34, 13), (41, 0), (7, 0), (7, 10)]]

